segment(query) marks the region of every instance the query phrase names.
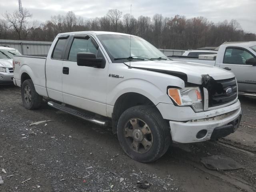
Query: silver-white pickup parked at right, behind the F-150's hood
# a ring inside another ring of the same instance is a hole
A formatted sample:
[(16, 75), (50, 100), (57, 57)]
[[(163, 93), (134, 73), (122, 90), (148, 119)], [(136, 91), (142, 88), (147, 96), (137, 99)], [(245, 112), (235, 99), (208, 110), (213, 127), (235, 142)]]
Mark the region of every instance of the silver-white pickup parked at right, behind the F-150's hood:
[[(212, 57), (211, 57), (212, 56)], [(208, 64), (230, 70), (238, 81), (239, 94), (256, 97), (256, 42), (235, 42), (222, 44), (216, 55), (199, 55), (196, 58), (176, 58), (176, 61), (188, 61)]]

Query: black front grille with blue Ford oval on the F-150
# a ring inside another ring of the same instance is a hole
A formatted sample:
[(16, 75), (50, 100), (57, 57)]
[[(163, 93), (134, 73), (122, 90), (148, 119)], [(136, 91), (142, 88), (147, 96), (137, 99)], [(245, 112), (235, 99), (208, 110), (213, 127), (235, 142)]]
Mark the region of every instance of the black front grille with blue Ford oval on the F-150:
[[(226, 92), (228, 88), (232, 88), (230, 94)], [(214, 82), (208, 86), (208, 94), (208, 107), (215, 107), (232, 102), (237, 97), (236, 79), (214, 80)]]

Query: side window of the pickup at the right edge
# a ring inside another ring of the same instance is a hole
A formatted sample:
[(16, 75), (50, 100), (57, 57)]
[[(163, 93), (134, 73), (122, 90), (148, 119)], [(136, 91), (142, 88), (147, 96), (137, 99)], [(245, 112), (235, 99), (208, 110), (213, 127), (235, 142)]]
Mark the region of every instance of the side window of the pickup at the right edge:
[(254, 56), (248, 51), (238, 48), (226, 48), (223, 63), (226, 64), (246, 64), (246, 60)]

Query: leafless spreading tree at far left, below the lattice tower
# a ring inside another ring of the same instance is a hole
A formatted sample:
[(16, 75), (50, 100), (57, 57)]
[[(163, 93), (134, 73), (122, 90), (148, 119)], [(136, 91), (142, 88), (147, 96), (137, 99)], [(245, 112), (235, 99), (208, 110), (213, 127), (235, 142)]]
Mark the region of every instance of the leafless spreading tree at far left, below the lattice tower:
[(22, 12), (15, 10), (12, 14), (8, 12), (4, 14), (4, 18), (10, 24), (10, 27), (14, 28), (16, 31), (18, 39), (21, 38), (22, 30), (26, 28), (26, 25), (28, 24), (27, 19), (31, 17), (32, 14), (30, 14), (26, 8), (24, 8)]

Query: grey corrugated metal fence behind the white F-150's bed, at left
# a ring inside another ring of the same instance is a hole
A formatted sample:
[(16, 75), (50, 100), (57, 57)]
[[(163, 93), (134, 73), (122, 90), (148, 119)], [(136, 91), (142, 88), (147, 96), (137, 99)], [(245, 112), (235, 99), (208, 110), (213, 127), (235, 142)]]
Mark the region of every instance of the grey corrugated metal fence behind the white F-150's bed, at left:
[(17, 49), (23, 55), (47, 55), (52, 42), (0, 39), (0, 46)]

